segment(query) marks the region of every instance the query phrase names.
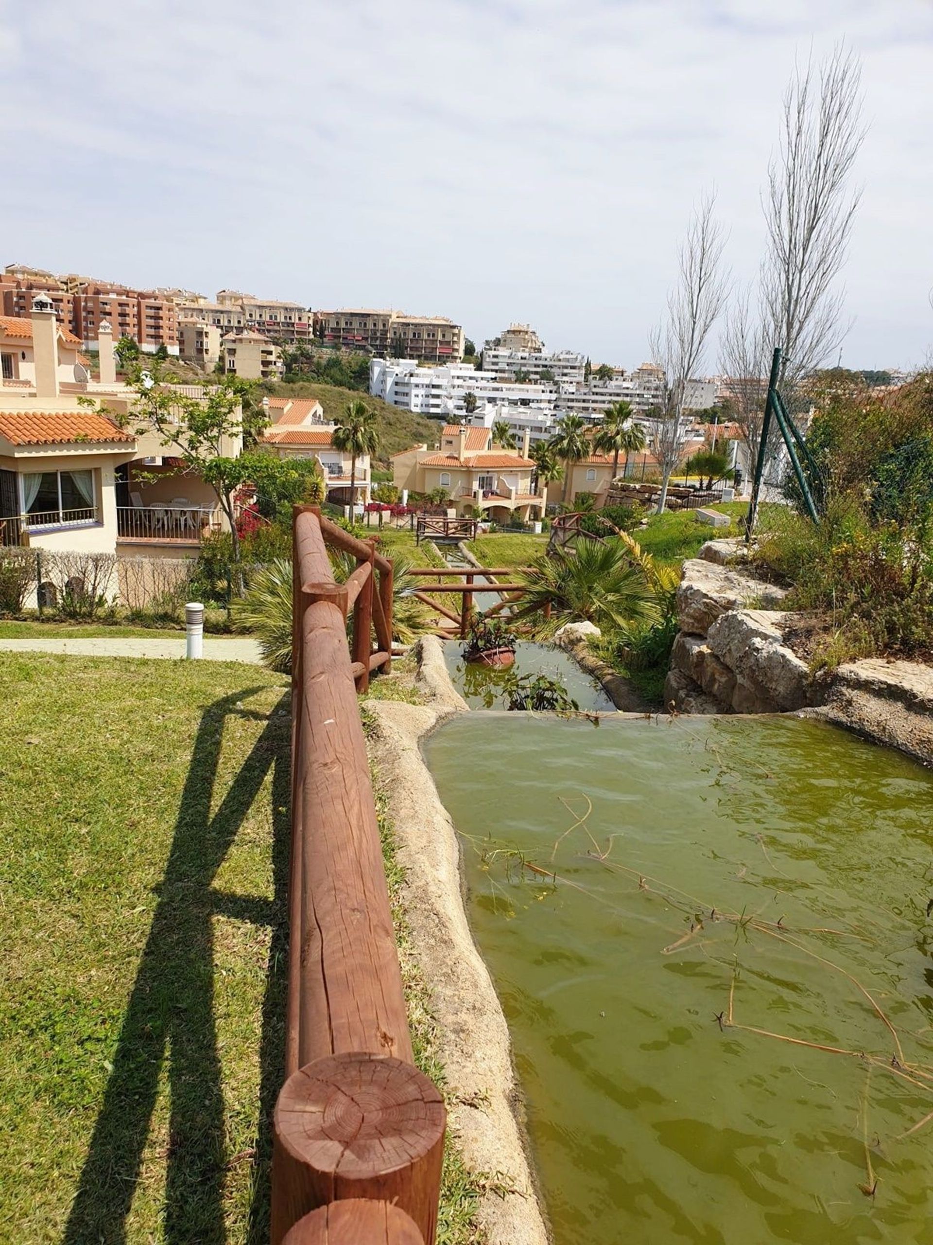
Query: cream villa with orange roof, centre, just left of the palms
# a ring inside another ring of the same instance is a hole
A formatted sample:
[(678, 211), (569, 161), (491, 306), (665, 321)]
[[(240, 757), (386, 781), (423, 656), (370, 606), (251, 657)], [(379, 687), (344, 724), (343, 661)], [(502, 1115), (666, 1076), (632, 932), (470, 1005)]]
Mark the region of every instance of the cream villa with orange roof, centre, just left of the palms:
[(481, 513), (496, 522), (540, 518), (545, 498), (532, 489), (534, 459), (529, 436), (521, 449), (493, 444), (490, 428), (449, 423), (440, 433), (439, 449), (415, 446), (392, 457), (393, 481), (409, 493), (444, 489), (458, 515)]

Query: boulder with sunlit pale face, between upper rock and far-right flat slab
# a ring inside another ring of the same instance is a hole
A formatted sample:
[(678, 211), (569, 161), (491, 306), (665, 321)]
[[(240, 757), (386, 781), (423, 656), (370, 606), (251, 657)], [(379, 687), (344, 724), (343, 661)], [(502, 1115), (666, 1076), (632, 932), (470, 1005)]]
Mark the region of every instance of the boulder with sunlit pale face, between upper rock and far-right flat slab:
[(736, 713), (773, 713), (811, 703), (810, 669), (785, 644), (779, 624), (786, 614), (729, 610), (710, 624), (707, 645), (735, 676)]

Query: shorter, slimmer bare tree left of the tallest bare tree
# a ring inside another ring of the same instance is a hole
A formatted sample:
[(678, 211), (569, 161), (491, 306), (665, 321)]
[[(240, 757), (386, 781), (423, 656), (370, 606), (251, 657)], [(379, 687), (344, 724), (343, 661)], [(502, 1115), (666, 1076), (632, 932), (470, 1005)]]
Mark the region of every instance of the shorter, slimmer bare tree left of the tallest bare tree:
[(729, 274), (723, 269), (722, 227), (713, 215), (715, 195), (705, 195), (680, 245), (679, 273), (668, 294), (667, 316), (651, 334), (652, 361), (664, 371), (661, 406), (649, 422), (649, 442), (662, 473), (658, 514), (664, 513), (671, 476), (683, 453), (687, 382), (697, 375), (710, 329), (725, 303)]

